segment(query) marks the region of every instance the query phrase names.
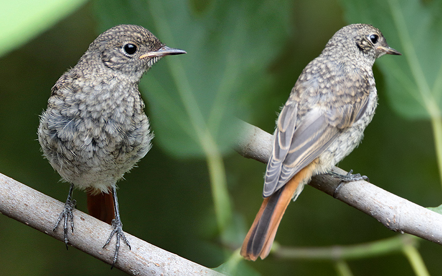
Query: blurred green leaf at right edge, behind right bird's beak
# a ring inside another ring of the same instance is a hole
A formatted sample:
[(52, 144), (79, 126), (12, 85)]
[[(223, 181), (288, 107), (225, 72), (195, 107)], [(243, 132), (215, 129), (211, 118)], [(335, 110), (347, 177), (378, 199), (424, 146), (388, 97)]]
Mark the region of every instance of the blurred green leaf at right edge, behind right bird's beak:
[(442, 1), (342, 0), (350, 23), (381, 29), (402, 57), (382, 57), (391, 106), (408, 118), (441, 116)]

